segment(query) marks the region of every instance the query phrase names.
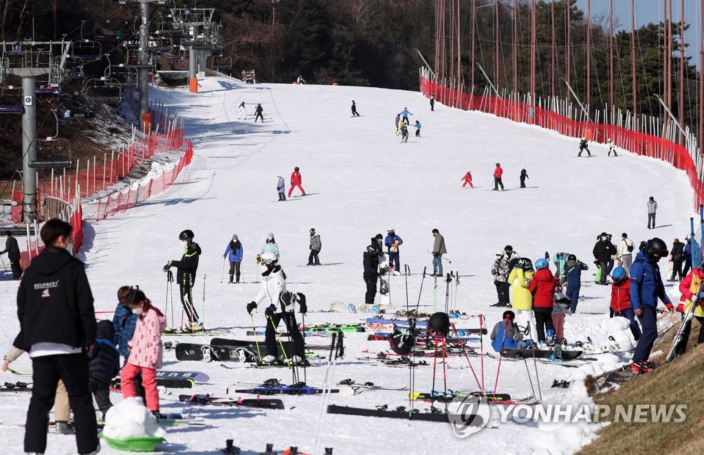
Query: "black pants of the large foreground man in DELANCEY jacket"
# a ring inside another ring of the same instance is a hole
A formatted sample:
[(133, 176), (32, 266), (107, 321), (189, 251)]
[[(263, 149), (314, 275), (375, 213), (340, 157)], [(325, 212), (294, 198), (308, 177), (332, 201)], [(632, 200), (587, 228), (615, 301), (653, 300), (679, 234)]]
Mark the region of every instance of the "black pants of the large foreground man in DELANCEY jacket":
[(25, 452), (46, 451), (46, 427), (49, 410), (54, 406), (56, 385), (61, 378), (73, 409), (73, 426), (79, 454), (89, 454), (98, 447), (98, 428), (88, 383), (88, 357), (84, 354), (60, 354), (32, 359), (32, 399), (25, 424)]

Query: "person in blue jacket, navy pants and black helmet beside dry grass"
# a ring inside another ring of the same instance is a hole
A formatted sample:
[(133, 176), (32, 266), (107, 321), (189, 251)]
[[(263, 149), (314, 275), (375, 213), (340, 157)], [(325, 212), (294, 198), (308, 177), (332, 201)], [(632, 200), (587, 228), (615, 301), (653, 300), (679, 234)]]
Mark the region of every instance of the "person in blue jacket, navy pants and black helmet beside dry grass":
[(631, 266), (631, 306), (638, 316), (643, 333), (638, 340), (636, 351), (633, 354), (631, 371), (646, 373), (653, 370), (653, 364), (648, 361), (650, 350), (653, 349), (655, 338), (658, 337), (657, 311), (658, 298), (667, 306), (670, 313), (674, 313), (674, 306), (670, 297), (665, 292), (660, 277), (658, 261), (667, 257), (667, 245), (658, 237), (648, 240), (643, 251), (636, 254), (636, 259)]

